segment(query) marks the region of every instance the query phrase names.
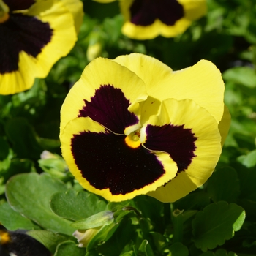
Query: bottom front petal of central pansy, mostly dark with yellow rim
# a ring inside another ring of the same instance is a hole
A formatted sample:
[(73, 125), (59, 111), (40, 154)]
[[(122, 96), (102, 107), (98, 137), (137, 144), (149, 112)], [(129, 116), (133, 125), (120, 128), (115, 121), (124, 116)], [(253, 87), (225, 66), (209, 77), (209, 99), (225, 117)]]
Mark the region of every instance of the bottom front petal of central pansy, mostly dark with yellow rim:
[(176, 176), (176, 163), (168, 154), (130, 148), (125, 135), (113, 134), (89, 117), (69, 121), (60, 138), (71, 173), (84, 188), (107, 200), (146, 194)]

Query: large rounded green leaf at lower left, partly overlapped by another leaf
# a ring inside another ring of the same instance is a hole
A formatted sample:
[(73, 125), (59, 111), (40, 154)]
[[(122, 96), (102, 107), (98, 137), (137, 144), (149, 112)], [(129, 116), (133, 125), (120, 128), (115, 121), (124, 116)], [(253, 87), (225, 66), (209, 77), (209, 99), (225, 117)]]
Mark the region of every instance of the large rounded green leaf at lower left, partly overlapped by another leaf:
[(75, 231), (69, 221), (50, 210), (50, 197), (64, 192), (67, 187), (61, 181), (47, 175), (25, 173), (7, 182), (6, 196), (10, 206), (23, 216), (53, 232), (72, 235)]

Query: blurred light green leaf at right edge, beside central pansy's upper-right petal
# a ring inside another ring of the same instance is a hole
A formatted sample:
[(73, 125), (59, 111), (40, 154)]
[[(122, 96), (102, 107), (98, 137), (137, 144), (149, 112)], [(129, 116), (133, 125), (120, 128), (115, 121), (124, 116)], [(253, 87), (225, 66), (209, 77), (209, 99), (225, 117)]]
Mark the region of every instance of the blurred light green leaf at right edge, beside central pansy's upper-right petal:
[(223, 78), (249, 88), (256, 87), (256, 73), (252, 67), (233, 67), (223, 73)]

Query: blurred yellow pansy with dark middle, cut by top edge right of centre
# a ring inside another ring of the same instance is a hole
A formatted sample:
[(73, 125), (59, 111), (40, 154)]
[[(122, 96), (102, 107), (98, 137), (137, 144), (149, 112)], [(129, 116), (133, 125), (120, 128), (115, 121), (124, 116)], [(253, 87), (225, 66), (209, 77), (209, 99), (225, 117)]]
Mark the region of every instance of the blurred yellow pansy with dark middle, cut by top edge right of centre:
[(123, 34), (132, 39), (176, 37), (206, 14), (205, 0), (122, 0)]

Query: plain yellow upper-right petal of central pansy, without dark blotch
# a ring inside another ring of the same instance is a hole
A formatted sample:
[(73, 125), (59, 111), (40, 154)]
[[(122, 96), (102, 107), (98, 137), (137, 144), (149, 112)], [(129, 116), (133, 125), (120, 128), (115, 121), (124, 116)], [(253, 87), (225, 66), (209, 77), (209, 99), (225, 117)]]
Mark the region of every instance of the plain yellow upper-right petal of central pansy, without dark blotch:
[(225, 87), (219, 69), (211, 61), (201, 60), (176, 72), (161, 61), (140, 53), (119, 56), (114, 61), (135, 72), (146, 83), (151, 97), (161, 101), (192, 99), (218, 122), (222, 119)]

